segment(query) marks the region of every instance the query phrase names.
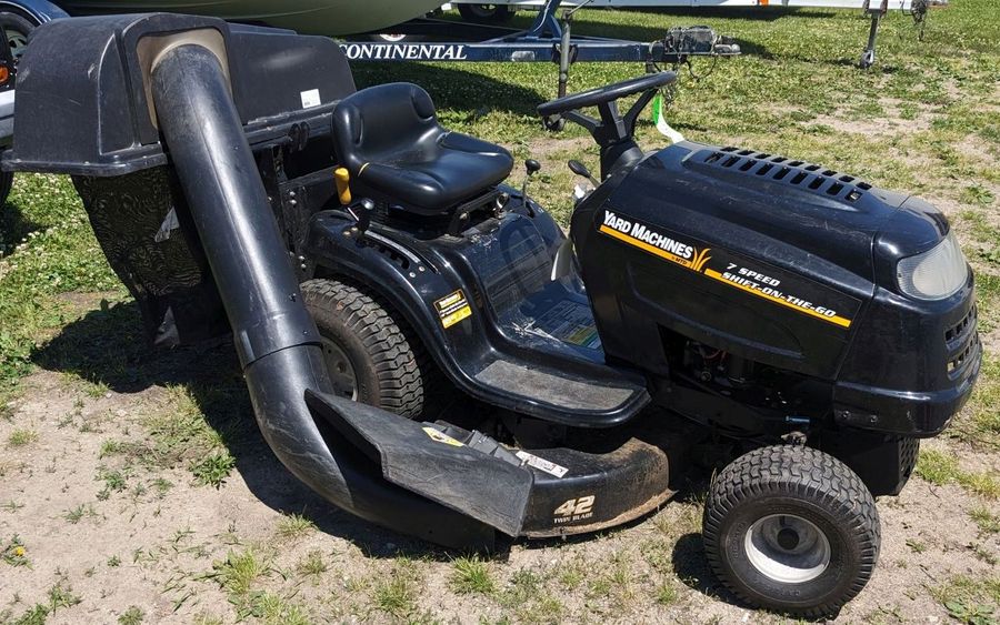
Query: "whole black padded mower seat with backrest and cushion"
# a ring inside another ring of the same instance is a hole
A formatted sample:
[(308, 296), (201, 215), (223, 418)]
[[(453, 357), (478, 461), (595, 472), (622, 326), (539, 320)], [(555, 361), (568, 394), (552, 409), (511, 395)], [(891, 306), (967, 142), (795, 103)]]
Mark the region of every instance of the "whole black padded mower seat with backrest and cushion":
[(427, 91), (404, 82), (341, 100), (333, 111), (333, 142), (358, 188), (354, 195), (424, 215), (484, 193), (513, 168), (503, 148), (440, 125)]

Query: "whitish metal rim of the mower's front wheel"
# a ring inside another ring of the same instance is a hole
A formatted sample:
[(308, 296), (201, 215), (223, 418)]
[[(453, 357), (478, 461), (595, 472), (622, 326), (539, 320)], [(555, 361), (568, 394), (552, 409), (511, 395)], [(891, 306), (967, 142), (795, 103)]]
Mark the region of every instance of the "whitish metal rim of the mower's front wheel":
[(830, 566), (830, 541), (811, 521), (772, 514), (747, 530), (743, 547), (762, 575), (784, 584), (816, 579)]

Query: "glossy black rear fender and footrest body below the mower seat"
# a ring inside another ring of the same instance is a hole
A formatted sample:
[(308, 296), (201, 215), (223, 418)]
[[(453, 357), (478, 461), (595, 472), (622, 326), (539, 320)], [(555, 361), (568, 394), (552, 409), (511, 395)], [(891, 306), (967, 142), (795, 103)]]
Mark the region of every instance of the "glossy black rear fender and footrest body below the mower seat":
[[(530, 228), (526, 228), (527, 224), (531, 224)], [(551, 342), (544, 340), (539, 340), (536, 349), (548, 350), (543, 359), (548, 366), (568, 372), (569, 380), (573, 376), (604, 380), (609, 384), (614, 382), (631, 387), (629, 400), (587, 410), (546, 403), (537, 396), (492, 384), (481, 372), (501, 360), (514, 366), (524, 363), (518, 341), (532, 340), (527, 334), (512, 341), (506, 334), (518, 332), (518, 329), (499, 322), (497, 293), (490, 290), (503, 293), (510, 284), (491, 281), (490, 270), (477, 266), (480, 262), (498, 265), (506, 261), (493, 258), (489, 263), (479, 256), (466, 256), (464, 251), (470, 245), (488, 248), (466, 240), (433, 245), (412, 241), (404, 245), (393, 239), (391, 229), (377, 223), (359, 239), (351, 230), (353, 225), (353, 220), (340, 211), (317, 213), (309, 224), (304, 256), (317, 263), (320, 275), (344, 276), (374, 290), (402, 315), (438, 366), (467, 394), (514, 412), (577, 427), (598, 429), (631, 419), (649, 401), (644, 381), (640, 377), (609, 367), (602, 357), (588, 360), (571, 353), (566, 345), (556, 351)], [(482, 235), (500, 240), (510, 236), (512, 231), (521, 235), (533, 231), (540, 245), (554, 249), (561, 244), (562, 235), (554, 222), (548, 224), (541, 215), (531, 219), (517, 211), (509, 212), (494, 229)], [(526, 262), (530, 265), (532, 261)], [(310, 275), (309, 272), (306, 275)]]

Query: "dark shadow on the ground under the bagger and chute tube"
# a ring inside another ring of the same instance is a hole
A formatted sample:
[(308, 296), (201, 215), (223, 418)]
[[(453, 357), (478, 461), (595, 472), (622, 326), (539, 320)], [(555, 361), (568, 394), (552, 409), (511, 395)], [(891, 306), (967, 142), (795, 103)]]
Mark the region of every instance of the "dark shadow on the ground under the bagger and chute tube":
[[(33, 354), (42, 369), (66, 372), (117, 393), (180, 385), (198, 403), (209, 426), (222, 436), (236, 468), (253, 495), (281, 513), (298, 513), (330, 535), (346, 538), (372, 557), (407, 555), (450, 561), (440, 547), (367, 523), (343, 512), (299, 482), (264, 442), (231, 342), (152, 350), (134, 302), (102, 305), (68, 324)], [(204, 496), (214, 496), (206, 487)]]

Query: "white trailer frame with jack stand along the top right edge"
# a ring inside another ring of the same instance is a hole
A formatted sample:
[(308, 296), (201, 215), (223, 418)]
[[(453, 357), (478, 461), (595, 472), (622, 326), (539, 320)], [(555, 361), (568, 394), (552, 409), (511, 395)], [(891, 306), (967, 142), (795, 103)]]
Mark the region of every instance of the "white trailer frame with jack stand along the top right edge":
[[(550, 3), (551, 0), (500, 0), (489, 4), (469, 0), (450, 2), (459, 10), (464, 20), (486, 24), (503, 23), (513, 18), (514, 12), (521, 9), (544, 11)], [(947, 6), (948, 0), (566, 0), (562, 4), (591, 9), (652, 9), (670, 7), (704, 9), (747, 7), (857, 9), (863, 11), (871, 19), (868, 44), (858, 63), (861, 69), (868, 69), (874, 64), (876, 60), (876, 39), (878, 37), (879, 22), (889, 11), (899, 10), (909, 13), (917, 23), (922, 23), (930, 7)]]

